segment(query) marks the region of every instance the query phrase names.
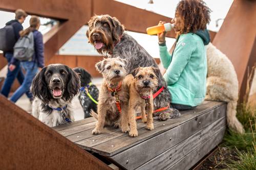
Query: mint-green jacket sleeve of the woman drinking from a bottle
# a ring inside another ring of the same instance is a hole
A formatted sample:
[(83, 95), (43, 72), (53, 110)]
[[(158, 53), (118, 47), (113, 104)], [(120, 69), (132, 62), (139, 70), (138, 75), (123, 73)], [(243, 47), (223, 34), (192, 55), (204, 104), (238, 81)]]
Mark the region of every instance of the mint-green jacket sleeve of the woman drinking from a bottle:
[(165, 74), (163, 75), (168, 85), (178, 81), (185, 66), (190, 60), (191, 54), (195, 49), (193, 37), (184, 37), (175, 47), (172, 62), (170, 62)]

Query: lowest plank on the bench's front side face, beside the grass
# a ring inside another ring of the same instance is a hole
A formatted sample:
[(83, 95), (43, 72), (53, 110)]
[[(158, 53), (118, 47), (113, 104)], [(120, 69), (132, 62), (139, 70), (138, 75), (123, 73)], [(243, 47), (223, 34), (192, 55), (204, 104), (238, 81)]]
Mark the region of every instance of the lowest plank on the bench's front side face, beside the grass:
[(195, 165), (200, 159), (202, 159), (206, 155), (206, 153), (209, 153), (212, 149), (214, 149), (222, 141), (224, 134), (225, 128), (223, 128), (219, 133), (212, 136), (209, 140), (199, 145), (198, 148), (180, 159), (173, 166), (169, 167), (168, 170), (189, 169), (190, 167)]

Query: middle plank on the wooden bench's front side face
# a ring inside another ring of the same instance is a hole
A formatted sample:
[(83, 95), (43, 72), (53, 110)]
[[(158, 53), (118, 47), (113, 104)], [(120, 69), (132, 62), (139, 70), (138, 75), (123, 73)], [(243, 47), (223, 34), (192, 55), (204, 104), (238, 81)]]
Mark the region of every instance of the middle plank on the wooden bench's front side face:
[[(136, 169), (166, 169), (226, 127), (225, 116)], [(151, 149), (151, 147), (148, 147)], [(206, 153), (205, 153), (206, 154)], [(146, 153), (143, 153), (146, 155)], [(130, 169), (130, 168), (129, 168)]]

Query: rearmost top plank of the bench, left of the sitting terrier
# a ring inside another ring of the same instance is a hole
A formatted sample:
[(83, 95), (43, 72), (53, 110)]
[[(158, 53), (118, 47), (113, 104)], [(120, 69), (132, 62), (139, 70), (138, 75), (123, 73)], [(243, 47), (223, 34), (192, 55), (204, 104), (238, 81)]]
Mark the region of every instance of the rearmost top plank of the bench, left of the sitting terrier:
[(59, 125), (56, 127), (53, 127), (53, 129), (55, 131), (61, 131), (61, 130), (65, 130), (65, 129), (69, 129), (69, 128), (73, 128), (79, 125), (84, 125), (84, 124), (89, 124), (92, 122), (96, 122), (96, 119), (94, 117), (88, 117), (88, 118), (84, 118), (82, 120), (77, 120), (76, 122), (72, 122), (72, 123), (67, 123), (64, 125)]

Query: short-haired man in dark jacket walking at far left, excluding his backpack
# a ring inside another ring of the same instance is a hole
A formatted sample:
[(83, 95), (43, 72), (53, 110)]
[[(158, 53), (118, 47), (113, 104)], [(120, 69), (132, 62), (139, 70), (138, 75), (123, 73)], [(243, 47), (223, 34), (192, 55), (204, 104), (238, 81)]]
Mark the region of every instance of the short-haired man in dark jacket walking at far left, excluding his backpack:
[[(6, 23), (6, 25), (11, 25), (13, 27), (16, 41), (19, 39), (19, 32), (23, 30), (22, 23), (25, 21), (27, 16), (28, 16), (28, 14), (24, 10), (17, 9), (15, 11), (15, 19), (10, 20), (9, 22)], [(7, 59), (8, 65), (10, 65), (10, 62), (13, 57), (13, 51), (4, 52), (4, 57)], [(24, 74), (23, 74), (22, 70), (20, 69), (19, 61), (16, 61), (13, 64), (15, 65), (15, 69), (13, 69), (11, 71), (8, 68), (7, 76), (6, 76), (4, 85), (1, 89), (1, 93), (3, 95), (5, 95), (6, 97), (8, 97), (8, 94), (10, 92), (11, 86), (12, 86), (15, 78), (18, 79), (18, 82), (20, 84), (22, 84), (24, 81)], [(32, 94), (29, 91), (26, 94), (27, 94), (28, 98), (32, 100)]]

